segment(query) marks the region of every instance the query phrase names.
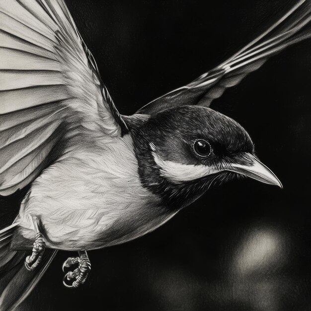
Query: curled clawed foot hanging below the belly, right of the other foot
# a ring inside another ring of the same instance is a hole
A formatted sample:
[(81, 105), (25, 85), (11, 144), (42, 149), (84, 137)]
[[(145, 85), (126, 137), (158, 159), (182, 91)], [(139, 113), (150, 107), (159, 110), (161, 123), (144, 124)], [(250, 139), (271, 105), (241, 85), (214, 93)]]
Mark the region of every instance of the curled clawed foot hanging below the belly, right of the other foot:
[[(68, 288), (76, 288), (80, 284), (83, 284), (91, 271), (91, 263), (88, 259), (86, 251), (79, 251), (78, 255), (78, 257), (67, 258), (67, 260), (63, 263), (63, 271), (65, 267), (69, 268), (72, 265), (78, 264), (78, 268), (74, 271), (67, 272), (64, 276), (63, 284)], [(74, 280), (72, 284), (66, 283), (66, 281), (72, 280)]]

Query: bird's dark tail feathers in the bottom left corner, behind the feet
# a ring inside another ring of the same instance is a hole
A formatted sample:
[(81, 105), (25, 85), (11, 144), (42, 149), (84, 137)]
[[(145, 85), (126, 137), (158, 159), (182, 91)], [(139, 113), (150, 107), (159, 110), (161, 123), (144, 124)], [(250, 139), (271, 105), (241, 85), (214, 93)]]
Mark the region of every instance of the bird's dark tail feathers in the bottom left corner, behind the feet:
[(47, 249), (40, 266), (28, 271), (25, 252), (10, 250), (10, 242), (18, 223), (0, 230), (0, 311), (15, 310), (30, 294), (52, 262), (57, 250)]

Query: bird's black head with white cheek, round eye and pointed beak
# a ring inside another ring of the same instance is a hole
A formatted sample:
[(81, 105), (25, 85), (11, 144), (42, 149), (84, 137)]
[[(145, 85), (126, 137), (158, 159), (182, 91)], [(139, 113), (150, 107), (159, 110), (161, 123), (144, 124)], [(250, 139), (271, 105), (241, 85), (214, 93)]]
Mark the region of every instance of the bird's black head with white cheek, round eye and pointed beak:
[(140, 178), (169, 205), (185, 206), (214, 181), (248, 176), (282, 187), (254, 155), (247, 132), (209, 108), (182, 106), (157, 113), (133, 135)]

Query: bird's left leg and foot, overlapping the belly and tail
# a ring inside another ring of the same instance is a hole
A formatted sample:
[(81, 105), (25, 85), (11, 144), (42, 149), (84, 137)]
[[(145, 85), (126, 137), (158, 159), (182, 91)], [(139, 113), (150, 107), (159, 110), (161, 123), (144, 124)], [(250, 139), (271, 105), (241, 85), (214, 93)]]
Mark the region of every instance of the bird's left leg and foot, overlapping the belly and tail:
[(45, 240), (43, 234), (40, 232), (41, 222), (37, 217), (32, 217), (33, 225), (35, 227), (36, 239), (33, 243), (32, 254), (25, 259), (25, 267), (27, 270), (34, 270), (39, 265), (44, 250)]

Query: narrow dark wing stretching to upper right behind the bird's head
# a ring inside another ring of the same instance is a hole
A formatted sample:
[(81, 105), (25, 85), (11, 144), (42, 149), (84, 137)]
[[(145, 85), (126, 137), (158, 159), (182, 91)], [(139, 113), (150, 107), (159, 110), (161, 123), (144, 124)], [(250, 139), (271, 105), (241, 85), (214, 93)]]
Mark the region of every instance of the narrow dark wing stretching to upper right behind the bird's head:
[(174, 89), (137, 111), (155, 114), (167, 108), (183, 105), (209, 107), (226, 88), (238, 84), (257, 70), (271, 56), (289, 45), (311, 37), (311, 1), (300, 0), (267, 31), (250, 42), (230, 59), (187, 85)]

